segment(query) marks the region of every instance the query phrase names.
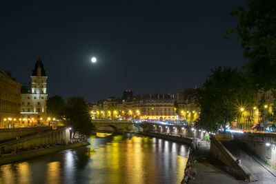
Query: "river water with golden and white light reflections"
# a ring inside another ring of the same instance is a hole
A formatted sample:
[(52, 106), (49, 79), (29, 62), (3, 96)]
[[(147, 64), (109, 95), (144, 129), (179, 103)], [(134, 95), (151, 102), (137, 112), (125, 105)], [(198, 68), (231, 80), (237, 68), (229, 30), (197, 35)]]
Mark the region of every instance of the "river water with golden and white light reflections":
[(0, 183), (180, 183), (188, 145), (124, 134), (0, 166)]

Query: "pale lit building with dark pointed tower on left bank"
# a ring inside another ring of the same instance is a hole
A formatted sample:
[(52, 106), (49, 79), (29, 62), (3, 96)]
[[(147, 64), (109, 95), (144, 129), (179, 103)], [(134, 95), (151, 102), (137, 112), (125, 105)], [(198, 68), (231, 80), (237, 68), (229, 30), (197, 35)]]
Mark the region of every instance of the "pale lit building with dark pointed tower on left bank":
[(31, 83), (21, 88), (21, 121), (25, 126), (46, 123), (47, 73), (41, 58), (32, 70)]

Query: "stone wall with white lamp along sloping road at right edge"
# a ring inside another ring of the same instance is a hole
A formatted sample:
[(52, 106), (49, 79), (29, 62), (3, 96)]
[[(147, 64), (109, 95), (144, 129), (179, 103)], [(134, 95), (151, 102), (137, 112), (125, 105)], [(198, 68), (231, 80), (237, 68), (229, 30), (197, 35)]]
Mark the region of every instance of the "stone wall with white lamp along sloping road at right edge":
[(244, 132), (234, 139), (276, 170), (276, 134)]

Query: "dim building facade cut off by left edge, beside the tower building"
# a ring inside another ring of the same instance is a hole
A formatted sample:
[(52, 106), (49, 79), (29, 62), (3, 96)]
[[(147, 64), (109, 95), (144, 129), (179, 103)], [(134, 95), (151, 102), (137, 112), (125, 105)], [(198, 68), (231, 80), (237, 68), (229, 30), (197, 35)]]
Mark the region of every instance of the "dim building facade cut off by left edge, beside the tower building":
[(19, 122), (20, 88), (12, 72), (0, 70), (0, 127), (14, 127)]

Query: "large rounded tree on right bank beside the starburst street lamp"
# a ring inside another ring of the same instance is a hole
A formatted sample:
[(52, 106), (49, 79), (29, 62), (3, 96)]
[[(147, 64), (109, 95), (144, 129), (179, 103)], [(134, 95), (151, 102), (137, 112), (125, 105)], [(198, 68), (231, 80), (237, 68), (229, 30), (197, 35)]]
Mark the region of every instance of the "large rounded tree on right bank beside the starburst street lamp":
[(239, 116), (240, 108), (254, 103), (256, 93), (246, 74), (237, 68), (219, 67), (212, 72), (198, 89), (201, 113), (196, 125), (207, 130), (217, 130), (222, 125), (226, 131), (228, 124)]

